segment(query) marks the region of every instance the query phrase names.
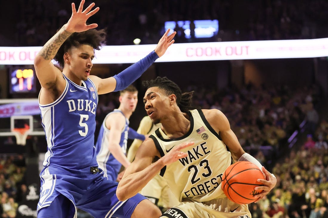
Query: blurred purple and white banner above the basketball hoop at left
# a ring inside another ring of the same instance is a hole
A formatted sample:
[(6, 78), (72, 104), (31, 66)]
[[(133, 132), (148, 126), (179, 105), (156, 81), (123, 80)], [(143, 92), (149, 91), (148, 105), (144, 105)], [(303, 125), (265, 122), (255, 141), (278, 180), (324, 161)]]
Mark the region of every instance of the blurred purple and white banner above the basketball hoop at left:
[(28, 102), (16, 102), (0, 105), (0, 118), (13, 115), (35, 115), (40, 114), (38, 100)]

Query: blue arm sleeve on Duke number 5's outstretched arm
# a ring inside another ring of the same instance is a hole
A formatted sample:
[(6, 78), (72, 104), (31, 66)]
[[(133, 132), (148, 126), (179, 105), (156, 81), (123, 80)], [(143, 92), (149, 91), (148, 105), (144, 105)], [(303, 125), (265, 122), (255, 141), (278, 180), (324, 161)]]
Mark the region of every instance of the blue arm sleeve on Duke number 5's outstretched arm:
[(155, 51), (149, 53), (146, 57), (134, 63), (121, 73), (114, 75), (116, 80), (116, 87), (114, 92), (121, 91), (131, 85), (137, 78), (139, 78), (148, 67), (150, 67), (154, 61), (158, 58)]

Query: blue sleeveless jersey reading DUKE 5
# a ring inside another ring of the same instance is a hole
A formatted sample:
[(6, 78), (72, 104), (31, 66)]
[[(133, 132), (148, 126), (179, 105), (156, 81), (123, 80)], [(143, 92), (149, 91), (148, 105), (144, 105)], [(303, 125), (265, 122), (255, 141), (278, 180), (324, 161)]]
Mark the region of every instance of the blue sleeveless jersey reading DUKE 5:
[(42, 126), (46, 133), (48, 151), (43, 165), (53, 171), (79, 174), (97, 166), (94, 130), (98, 94), (91, 79), (76, 85), (64, 75), (66, 86), (51, 104), (40, 105)]

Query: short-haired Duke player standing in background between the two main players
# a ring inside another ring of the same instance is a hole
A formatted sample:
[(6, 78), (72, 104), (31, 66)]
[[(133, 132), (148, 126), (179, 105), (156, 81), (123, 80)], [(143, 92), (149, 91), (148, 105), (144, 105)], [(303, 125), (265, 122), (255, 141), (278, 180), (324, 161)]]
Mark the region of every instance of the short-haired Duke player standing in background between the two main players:
[[(129, 127), (129, 119), (138, 103), (138, 91), (130, 85), (120, 91), (120, 106), (107, 114), (102, 123), (96, 142), (97, 162), (104, 170), (104, 176), (116, 181), (122, 165), (126, 168), (130, 161), (126, 157), (128, 139), (145, 140), (145, 135)], [(148, 138), (148, 136), (147, 136)]]

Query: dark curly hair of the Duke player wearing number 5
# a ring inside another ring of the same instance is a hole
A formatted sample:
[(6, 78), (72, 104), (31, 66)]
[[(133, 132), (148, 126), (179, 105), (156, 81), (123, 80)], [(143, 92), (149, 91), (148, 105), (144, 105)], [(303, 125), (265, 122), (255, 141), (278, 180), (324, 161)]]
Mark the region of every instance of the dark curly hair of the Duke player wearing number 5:
[(83, 32), (74, 32), (72, 35), (60, 46), (57, 54), (53, 58), (61, 67), (64, 67), (64, 54), (72, 47), (78, 47), (87, 44), (93, 47), (94, 50), (100, 50), (101, 46), (106, 42), (106, 29), (89, 29)]

